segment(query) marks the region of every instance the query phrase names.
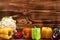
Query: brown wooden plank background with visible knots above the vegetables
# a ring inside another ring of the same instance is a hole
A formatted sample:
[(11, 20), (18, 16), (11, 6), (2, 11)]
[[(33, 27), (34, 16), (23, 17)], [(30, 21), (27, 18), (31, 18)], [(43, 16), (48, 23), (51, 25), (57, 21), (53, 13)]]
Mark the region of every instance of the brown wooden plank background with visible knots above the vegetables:
[(0, 19), (8, 15), (17, 28), (60, 27), (60, 0), (0, 0)]

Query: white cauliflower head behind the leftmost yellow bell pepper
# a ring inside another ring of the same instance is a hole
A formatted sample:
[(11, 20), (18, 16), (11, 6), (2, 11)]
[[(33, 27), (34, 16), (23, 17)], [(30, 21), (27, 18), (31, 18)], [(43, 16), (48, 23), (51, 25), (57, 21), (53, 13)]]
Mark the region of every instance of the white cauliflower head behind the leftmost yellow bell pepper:
[(12, 16), (3, 17), (2, 20), (1, 20), (0, 25), (1, 25), (0, 28), (10, 27), (10, 28), (12, 28), (14, 31), (16, 31), (16, 21), (13, 20)]

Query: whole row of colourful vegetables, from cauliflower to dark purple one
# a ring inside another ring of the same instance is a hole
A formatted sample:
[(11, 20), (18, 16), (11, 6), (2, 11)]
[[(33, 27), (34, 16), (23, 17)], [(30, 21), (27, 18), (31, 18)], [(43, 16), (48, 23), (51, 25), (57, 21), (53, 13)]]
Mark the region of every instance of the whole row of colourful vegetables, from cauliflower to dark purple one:
[(41, 38), (52, 38), (53, 40), (60, 39), (60, 29), (51, 27), (37, 28), (23, 28), (21, 32), (16, 30), (16, 21), (12, 16), (3, 17), (0, 21), (0, 38), (2, 39), (33, 39), (40, 40)]

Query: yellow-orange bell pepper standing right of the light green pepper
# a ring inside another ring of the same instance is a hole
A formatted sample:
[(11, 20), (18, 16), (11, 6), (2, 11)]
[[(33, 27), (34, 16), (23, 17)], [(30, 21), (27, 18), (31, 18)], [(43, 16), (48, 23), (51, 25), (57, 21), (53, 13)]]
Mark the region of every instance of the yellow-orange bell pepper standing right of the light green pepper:
[(51, 38), (52, 37), (52, 28), (42, 27), (42, 38)]

